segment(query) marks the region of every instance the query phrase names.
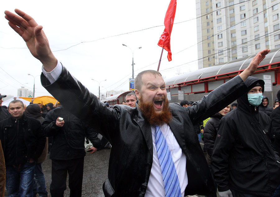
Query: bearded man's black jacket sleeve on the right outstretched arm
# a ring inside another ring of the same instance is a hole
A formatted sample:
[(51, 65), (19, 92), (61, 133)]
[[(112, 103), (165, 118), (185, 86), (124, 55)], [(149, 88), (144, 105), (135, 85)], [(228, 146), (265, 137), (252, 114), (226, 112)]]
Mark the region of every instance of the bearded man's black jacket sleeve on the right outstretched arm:
[(192, 123), (198, 123), (219, 112), (227, 105), (235, 101), (247, 91), (247, 86), (239, 75), (214, 89), (202, 100), (194, 102), (187, 107), (187, 113)]

